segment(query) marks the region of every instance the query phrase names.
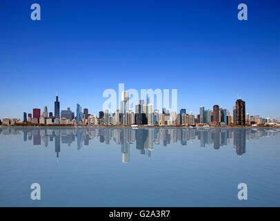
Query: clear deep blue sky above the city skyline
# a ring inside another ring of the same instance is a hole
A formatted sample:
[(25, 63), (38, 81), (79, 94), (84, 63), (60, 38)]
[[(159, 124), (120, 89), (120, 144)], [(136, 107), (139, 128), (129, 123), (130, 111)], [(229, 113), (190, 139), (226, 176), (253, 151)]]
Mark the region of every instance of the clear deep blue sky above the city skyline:
[[(41, 21), (30, 19), (32, 3)], [(248, 21), (237, 19), (246, 3)], [(0, 118), (102, 109), (103, 90), (177, 88), (178, 108), (219, 104), (280, 120), (280, 1), (0, 1)]]

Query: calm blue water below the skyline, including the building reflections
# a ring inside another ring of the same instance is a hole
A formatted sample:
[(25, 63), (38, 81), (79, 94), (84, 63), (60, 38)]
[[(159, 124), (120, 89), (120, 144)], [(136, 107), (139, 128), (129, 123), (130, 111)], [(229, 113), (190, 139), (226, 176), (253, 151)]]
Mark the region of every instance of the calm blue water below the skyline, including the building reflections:
[(279, 144), (277, 128), (2, 127), (0, 206), (280, 206)]

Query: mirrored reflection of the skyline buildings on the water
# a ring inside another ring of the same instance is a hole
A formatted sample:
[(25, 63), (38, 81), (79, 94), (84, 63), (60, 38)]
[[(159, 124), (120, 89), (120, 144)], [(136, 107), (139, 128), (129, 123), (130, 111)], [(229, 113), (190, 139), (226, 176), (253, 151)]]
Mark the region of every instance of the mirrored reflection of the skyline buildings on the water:
[(276, 128), (20, 128), (3, 127), (0, 134), (21, 135), (23, 142), (33, 141), (33, 145), (48, 147), (48, 142), (54, 142), (55, 153), (59, 159), (61, 144), (77, 143), (77, 150), (96, 140), (104, 144), (121, 146), (122, 162), (130, 162), (130, 145), (135, 144), (140, 154), (151, 157), (153, 145), (168, 146), (179, 143), (186, 146), (188, 142), (199, 140), (201, 148), (206, 145), (219, 150), (221, 146), (230, 144), (237, 155), (246, 153), (246, 141), (259, 139), (262, 136), (274, 136), (280, 131)]

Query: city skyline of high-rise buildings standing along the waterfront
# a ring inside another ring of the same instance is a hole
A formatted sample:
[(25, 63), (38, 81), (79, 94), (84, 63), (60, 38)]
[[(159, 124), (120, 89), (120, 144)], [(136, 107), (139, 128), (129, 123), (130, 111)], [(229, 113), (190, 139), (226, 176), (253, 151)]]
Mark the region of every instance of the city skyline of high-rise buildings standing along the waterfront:
[(41, 125), (69, 125), (69, 126), (97, 126), (97, 125), (116, 125), (116, 126), (259, 126), (272, 125), (280, 126), (275, 118), (269, 117), (263, 119), (259, 115), (250, 116), (246, 114), (246, 104), (242, 99), (237, 99), (230, 111), (225, 108), (220, 108), (219, 105), (214, 105), (212, 109), (206, 110), (204, 106), (199, 107), (199, 114), (195, 117), (186, 112), (185, 108), (180, 109), (180, 112), (169, 111), (166, 108), (154, 110), (153, 104), (150, 103), (150, 97), (141, 99), (139, 104), (135, 106), (135, 112), (129, 108), (129, 93), (123, 91), (121, 93), (121, 109), (117, 109), (114, 113), (109, 110), (100, 111), (91, 115), (88, 113), (88, 108), (81, 108), (77, 104), (76, 115), (67, 108), (60, 112), (60, 102), (57, 95), (54, 102), (54, 114), (48, 113), (48, 107), (41, 109), (34, 108), (32, 113), (23, 113), (23, 121), (20, 119), (4, 118), (2, 124), (41, 124)]

